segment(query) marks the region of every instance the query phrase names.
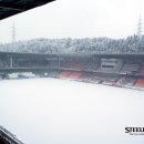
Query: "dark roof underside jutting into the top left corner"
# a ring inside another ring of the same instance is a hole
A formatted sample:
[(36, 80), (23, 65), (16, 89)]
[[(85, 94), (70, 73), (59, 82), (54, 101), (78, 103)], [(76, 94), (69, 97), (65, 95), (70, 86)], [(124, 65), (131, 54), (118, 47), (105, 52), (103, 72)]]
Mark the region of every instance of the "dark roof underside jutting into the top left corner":
[(54, 0), (0, 0), (0, 20)]

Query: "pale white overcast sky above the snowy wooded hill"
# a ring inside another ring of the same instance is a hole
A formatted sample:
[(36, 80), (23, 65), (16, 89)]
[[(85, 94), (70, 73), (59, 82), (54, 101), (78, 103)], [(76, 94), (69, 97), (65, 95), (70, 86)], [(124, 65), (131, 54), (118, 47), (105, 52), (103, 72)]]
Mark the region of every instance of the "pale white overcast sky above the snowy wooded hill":
[(33, 38), (125, 38), (136, 32), (144, 0), (56, 0), (0, 21), (0, 42)]

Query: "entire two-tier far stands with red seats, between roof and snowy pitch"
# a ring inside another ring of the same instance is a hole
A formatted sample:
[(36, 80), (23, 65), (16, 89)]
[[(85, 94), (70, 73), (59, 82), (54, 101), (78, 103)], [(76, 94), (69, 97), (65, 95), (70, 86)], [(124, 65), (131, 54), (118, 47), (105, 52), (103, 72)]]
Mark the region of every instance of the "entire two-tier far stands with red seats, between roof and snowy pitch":
[[(43, 56), (43, 55), (42, 55)], [(144, 88), (144, 58), (127, 59), (125, 58), (104, 58), (101, 56), (72, 56), (70, 55), (54, 55), (54, 58), (27, 58), (16, 56), (0, 58), (0, 80), (8, 79), (3, 74), (6, 70), (7, 75), (11, 74), (12, 70), (28, 70), (35, 71), (39, 76), (58, 78), (75, 80), (81, 82), (106, 84), (125, 88)], [(12, 59), (12, 60), (11, 60)], [(32, 68), (32, 69), (31, 69)], [(43, 69), (44, 68), (44, 69)], [(10, 70), (10, 72), (9, 72)], [(17, 71), (19, 73), (19, 71)], [(25, 74), (11, 74), (11, 79), (28, 78)]]

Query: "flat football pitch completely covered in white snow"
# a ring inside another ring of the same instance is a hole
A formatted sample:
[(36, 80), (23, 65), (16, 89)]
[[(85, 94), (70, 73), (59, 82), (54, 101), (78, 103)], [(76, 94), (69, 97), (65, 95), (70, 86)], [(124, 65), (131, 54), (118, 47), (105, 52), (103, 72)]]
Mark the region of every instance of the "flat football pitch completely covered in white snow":
[(56, 79), (0, 81), (0, 125), (24, 144), (143, 144), (144, 91)]

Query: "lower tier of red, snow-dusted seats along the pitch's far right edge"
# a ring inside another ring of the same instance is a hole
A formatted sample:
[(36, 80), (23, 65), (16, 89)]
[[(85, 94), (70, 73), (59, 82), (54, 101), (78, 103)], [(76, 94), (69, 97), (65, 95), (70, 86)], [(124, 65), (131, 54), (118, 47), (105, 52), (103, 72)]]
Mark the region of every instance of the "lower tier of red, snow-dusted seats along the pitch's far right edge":
[(120, 74), (103, 74), (96, 72), (70, 71), (70, 70), (51, 70), (48, 72), (49, 78), (59, 78), (66, 80), (75, 80), (81, 82), (105, 84), (111, 86), (122, 88), (144, 88), (144, 78), (120, 75)]

